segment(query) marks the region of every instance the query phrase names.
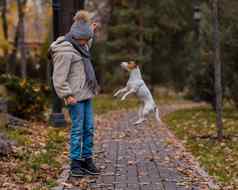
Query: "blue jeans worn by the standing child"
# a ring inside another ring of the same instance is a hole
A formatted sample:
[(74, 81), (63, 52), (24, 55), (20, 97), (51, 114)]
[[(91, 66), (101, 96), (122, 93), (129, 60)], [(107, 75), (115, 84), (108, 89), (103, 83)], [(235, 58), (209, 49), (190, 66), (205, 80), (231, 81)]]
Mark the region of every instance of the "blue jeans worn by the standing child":
[(69, 106), (72, 121), (70, 159), (91, 158), (93, 154), (94, 116), (91, 100)]

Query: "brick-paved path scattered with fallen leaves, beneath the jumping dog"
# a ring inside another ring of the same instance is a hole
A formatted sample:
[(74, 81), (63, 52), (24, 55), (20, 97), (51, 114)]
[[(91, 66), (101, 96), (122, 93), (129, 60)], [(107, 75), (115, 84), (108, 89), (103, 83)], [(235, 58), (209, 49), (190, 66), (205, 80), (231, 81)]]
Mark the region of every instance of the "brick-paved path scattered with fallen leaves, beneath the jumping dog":
[[(164, 115), (179, 108), (161, 109)], [(61, 189), (209, 189), (206, 173), (163, 124), (150, 121), (135, 127), (134, 112), (108, 116), (97, 121), (95, 159), (101, 175), (82, 180), (70, 178)]]

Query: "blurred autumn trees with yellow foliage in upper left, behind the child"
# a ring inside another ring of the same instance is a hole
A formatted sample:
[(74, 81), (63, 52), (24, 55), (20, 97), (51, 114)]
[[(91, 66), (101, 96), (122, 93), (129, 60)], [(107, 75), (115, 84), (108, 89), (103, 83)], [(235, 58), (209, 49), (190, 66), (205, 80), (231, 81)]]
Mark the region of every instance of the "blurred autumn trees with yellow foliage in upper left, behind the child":
[[(27, 39), (29, 32), (33, 33), (33, 31), (27, 30), (32, 30), (33, 28), (29, 28), (26, 17), (29, 18), (29, 14), (37, 17), (38, 14), (36, 10), (34, 14), (29, 12), (34, 11), (29, 9), (29, 2), (28, 0), (0, 1), (0, 27), (3, 33), (3, 38), (0, 37), (0, 49), (2, 50), (1, 52), (3, 52), (3, 57), (0, 58), (0, 71), (1, 73), (18, 75), (21, 78), (30, 77), (37, 79), (38, 77), (40, 80), (47, 80), (47, 74), (42, 75), (42, 72), (45, 72), (47, 68), (46, 51), (50, 42), (49, 38), (47, 38), (45, 42), (40, 42), (42, 47), (39, 47), (35, 42), (39, 42), (42, 36), (39, 36), (37, 39), (35, 38), (32, 44), (31, 41)], [(39, 9), (51, 6), (50, 0), (34, 1), (33, 4), (34, 6), (38, 6)], [(14, 17), (14, 15), (16, 16)], [(41, 27), (44, 26), (46, 26), (46, 24)], [(42, 35), (40, 32), (41, 28), (39, 28), (37, 24), (33, 27), (38, 27), (38, 35)], [(37, 30), (36, 28), (34, 28), (34, 30)], [(49, 36), (50, 35), (51, 34), (49, 34)], [(28, 47), (29, 44), (37, 47), (33, 49), (32, 47)], [(41, 72), (41, 74), (38, 74), (39, 72)]]

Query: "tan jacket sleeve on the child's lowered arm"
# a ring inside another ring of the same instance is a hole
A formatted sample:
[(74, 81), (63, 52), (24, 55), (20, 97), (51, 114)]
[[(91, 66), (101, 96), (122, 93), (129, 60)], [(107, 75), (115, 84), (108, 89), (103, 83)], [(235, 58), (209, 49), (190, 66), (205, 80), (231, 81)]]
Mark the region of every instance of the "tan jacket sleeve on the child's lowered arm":
[(72, 56), (70, 53), (57, 53), (53, 57), (53, 84), (57, 95), (62, 99), (73, 96), (72, 89), (68, 83)]

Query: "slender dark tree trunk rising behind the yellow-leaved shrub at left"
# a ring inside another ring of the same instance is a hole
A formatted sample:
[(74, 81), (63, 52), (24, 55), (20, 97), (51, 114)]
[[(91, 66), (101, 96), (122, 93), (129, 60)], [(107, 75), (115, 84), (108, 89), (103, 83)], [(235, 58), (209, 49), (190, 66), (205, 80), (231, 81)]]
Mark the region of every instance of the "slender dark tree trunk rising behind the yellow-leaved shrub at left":
[(26, 78), (27, 76), (27, 58), (26, 58), (26, 47), (25, 47), (25, 6), (27, 0), (17, 0), (18, 6), (18, 24), (19, 24), (19, 48), (21, 54), (21, 76)]

